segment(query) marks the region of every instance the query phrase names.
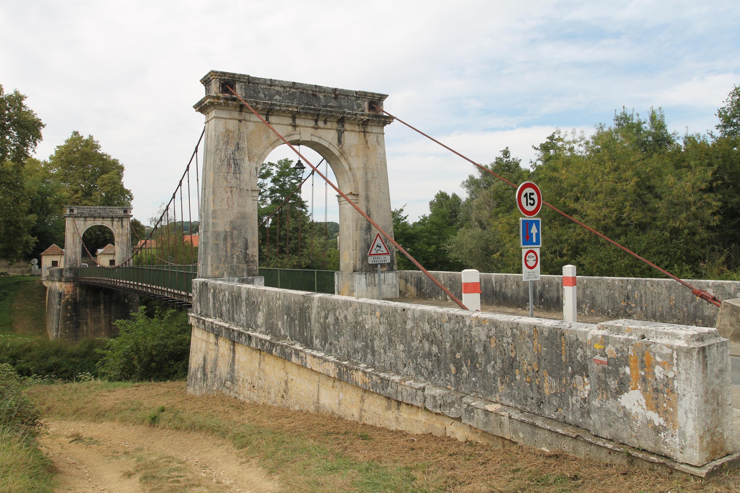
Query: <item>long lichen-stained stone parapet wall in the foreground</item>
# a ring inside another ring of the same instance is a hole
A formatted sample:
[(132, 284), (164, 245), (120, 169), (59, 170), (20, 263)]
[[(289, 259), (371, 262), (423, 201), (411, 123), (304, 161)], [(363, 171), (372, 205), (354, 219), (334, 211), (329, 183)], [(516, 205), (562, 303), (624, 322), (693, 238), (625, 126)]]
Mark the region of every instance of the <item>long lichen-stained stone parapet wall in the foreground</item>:
[[(403, 382), (406, 395), (389, 396), (433, 412), (462, 418), (464, 399), (478, 398), (695, 466), (732, 450), (730, 347), (716, 330), (596, 326), (218, 279), (195, 279), (193, 291), (195, 327), (227, 336), (226, 327), (240, 344), (254, 343), (254, 333), (326, 361), (354, 361), (367, 370), (360, 381), (343, 370), (332, 376), (381, 395), (388, 381)], [(219, 362), (203, 369), (204, 361), (192, 360), (191, 372), (224, 371)]]

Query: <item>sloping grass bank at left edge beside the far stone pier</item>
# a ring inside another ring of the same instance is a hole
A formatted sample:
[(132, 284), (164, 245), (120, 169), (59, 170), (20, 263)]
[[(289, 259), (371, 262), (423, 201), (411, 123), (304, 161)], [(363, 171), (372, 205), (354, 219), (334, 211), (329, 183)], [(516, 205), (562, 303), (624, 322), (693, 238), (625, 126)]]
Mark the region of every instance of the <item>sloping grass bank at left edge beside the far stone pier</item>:
[(0, 341), (46, 337), (46, 289), (38, 277), (0, 277)]

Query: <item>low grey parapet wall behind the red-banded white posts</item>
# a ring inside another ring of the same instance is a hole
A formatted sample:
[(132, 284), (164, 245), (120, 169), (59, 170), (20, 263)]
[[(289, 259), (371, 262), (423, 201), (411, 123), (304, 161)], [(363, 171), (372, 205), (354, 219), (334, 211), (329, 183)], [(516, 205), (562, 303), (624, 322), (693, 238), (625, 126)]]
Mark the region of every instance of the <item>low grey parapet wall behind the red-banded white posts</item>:
[[(462, 296), (460, 272), (432, 272), (455, 296)], [(719, 299), (740, 297), (740, 282), (687, 279)], [(503, 307), (528, 308), (528, 285), (521, 274), (480, 274), (480, 302)], [(420, 271), (399, 271), (401, 298), (447, 300), (434, 282)], [(579, 276), (580, 315), (637, 319), (667, 324), (714, 327), (719, 308), (697, 299), (673, 279)], [(562, 312), (562, 277), (542, 276), (534, 282), (534, 308)]]

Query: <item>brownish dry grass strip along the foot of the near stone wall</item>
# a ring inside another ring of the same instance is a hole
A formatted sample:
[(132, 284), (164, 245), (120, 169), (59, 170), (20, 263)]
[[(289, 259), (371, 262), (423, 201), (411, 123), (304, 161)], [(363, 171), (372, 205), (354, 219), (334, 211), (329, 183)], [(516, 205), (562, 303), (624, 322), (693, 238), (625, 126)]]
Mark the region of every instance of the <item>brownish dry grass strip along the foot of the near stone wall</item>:
[(528, 447), (494, 449), (340, 418), (187, 395), (184, 382), (64, 384), (34, 389), (59, 418), (150, 424), (228, 438), (292, 491), (737, 492), (740, 475), (660, 475)]

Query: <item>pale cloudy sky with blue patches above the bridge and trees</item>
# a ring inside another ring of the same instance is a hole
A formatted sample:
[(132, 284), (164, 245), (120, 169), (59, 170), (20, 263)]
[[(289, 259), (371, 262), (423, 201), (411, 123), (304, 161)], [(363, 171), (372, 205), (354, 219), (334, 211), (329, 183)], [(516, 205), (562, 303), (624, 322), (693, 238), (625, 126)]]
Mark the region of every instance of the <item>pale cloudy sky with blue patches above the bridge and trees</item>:
[[(192, 105), (210, 69), (383, 92), (388, 111), (474, 160), (509, 146), (528, 163), (555, 128), (588, 132), (622, 106), (662, 106), (680, 134), (713, 129), (740, 84), (738, 25), (736, 0), (5, 1), (0, 84), (47, 123), (37, 157), (92, 134), (146, 220), (201, 132)], [(471, 173), (400, 123), (386, 151), (393, 205), (411, 218)]]

